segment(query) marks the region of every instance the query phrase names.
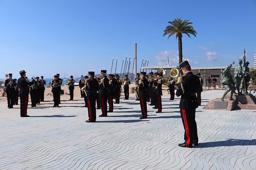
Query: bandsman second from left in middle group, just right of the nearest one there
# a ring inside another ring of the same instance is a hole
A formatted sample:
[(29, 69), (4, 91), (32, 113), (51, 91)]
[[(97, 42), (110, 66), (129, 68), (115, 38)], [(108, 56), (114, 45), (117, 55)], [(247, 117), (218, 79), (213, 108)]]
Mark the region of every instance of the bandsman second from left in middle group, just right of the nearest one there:
[(107, 113), (107, 99), (108, 99), (108, 85), (109, 80), (106, 76), (107, 70), (101, 70), (100, 75), (102, 79), (100, 80), (100, 105), (102, 114), (99, 117), (108, 116)]

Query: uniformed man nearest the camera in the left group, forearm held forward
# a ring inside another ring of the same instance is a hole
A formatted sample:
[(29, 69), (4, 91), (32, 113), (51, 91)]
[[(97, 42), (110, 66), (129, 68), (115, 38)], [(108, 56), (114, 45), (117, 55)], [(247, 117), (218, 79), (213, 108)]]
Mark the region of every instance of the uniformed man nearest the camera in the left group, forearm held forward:
[(28, 109), (28, 86), (32, 85), (33, 82), (29, 82), (26, 77), (26, 71), (20, 71), (20, 78), (18, 79), (18, 85), (20, 87), (20, 117), (29, 117), (27, 115)]

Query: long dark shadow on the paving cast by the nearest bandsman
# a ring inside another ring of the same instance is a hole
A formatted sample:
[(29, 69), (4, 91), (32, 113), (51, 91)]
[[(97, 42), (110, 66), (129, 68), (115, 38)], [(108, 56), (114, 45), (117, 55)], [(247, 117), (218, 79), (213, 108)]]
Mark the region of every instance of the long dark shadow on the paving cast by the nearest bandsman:
[(220, 146), (255, 146), (256, 139), (244, 140), (244, 139), (228, 139), (226, 141), (204, 142), (199, 143), (195, 148), (211, 148)]

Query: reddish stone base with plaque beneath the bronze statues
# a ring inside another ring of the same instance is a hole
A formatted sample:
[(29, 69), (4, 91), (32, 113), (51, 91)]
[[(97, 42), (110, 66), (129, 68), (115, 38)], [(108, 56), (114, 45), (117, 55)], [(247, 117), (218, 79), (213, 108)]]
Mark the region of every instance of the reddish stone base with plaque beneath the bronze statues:
[(228, 100), (229, 94), (224, 98), (224, 101), (220, 99), (213, 99), (209, 101), (203, 109), (207, 110), (256, 110), (256, 98), (252, 94), (245, 95), (233, 95), (235, 100)]

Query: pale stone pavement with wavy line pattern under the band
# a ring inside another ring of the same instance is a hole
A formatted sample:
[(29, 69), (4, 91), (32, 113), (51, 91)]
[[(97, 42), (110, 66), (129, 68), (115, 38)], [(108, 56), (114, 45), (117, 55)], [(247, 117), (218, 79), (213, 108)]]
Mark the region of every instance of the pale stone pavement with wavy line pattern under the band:
[[(204, 105), (224, 91), (202, 93)], [(88, 119), (83, 100), (52, 105), (52, 97), (21, 118), (19, 106), (0, 103), (0, 169), (7, 170), (255, 170), (256, 113), (251, 110), (196, 112), (199, 142), (180, 148), (184, 129), (179, 99), (163, 96), (163, 113), (148, 107), (140, 120), (134, 97), (121, 100), (114, 113)], [(100, 110), (97, 110), (100, 115)]]

